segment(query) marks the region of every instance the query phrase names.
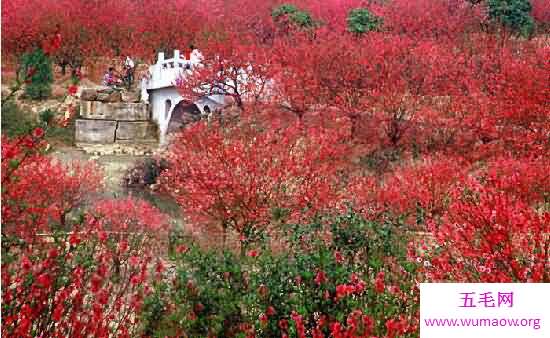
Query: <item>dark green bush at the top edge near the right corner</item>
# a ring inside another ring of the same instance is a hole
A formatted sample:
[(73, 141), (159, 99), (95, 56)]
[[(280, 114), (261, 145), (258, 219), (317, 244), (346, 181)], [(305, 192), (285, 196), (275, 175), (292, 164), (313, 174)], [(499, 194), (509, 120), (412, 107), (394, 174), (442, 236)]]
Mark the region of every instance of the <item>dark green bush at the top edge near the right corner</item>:
[(529, 0), (488, 0), (489, 17), (522, 36), (530, 36), (535, 28)]

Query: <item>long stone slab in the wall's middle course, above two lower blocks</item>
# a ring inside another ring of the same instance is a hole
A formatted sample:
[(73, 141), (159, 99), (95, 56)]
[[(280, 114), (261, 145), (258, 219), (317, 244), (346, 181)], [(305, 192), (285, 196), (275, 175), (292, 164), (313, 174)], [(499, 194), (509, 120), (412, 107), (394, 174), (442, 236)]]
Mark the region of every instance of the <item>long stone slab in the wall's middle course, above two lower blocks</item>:
[(86, 119), (147, 121), (149, 106), (145, 103), (80, 101), (80, 116)]

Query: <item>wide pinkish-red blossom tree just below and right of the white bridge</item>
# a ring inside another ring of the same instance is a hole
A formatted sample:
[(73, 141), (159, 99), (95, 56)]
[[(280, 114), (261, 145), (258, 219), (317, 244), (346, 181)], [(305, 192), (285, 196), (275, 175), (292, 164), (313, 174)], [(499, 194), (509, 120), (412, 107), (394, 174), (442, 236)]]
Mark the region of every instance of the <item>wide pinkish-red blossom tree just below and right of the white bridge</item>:
[(256, 128), (196, 123), (175, 138), (161, 184), (192, 224), (253, 239), (277, 210), (296, 218), (334, 201), (345, 129)]

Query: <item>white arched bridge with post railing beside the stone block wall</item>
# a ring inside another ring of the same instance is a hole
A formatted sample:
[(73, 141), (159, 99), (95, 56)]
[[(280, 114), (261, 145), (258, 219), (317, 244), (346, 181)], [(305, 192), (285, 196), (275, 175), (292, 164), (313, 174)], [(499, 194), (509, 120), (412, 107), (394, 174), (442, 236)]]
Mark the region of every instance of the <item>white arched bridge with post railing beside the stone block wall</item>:
[(149, 103), (152, 119), (158, 124), (160, 143), (166, 143), (168, 125), (174, 108), (178, 105), (192, 106), (203, 115), (208, 115), (224, 105), (223, 95), (210, 95), (190, 103), (180, 95), (176, 81), (185, 77), (185, 72), (200, 65), (202, 55), (193, 50), (189, 59), (182, 58), (180, 51), (174, 51), (174, 57), (165, 59), (164, 53), (158, 54), (157, 63), (149, 67), (148, 79), (142, 79), (141, 100)]

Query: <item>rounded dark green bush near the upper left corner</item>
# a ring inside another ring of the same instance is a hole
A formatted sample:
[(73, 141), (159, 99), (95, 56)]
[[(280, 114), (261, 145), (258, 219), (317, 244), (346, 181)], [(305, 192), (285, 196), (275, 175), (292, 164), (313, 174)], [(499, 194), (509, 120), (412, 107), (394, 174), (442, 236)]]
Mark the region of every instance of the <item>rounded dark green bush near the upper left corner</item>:
[(19, 77), (25, 79), (25, 93), (34, 100), (48, 98), (52, 92), (52, 61), (41, 49), (21, 57)]

